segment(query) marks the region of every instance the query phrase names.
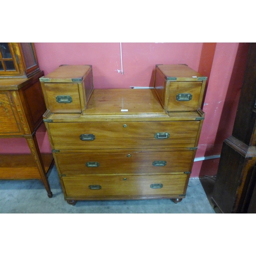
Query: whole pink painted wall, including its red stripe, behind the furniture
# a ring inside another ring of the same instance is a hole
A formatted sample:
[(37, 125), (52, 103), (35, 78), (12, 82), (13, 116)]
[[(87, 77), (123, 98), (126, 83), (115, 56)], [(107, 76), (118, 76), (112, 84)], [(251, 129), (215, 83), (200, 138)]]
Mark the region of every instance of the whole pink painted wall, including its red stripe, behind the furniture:
[[(122, 43), (122, 75), (118, 73), (121, 70), (119, 43), (35, 43), (39, 67), (45, 75), (59, 65), (89, 64), (93, 66), (95, 89), (153, 86), (156, 64), (186, 63), (207, 76), (203, 105), (206, 116), (197, 158), (219, 155), (223, 140), (231, 135), (248, 46), (244, 43)], [(49, 150), (43, 131), (39, 135), (42, 148)], [(218, 163), (218, 158), (195, 162), (191, 177), (215, 175)]]

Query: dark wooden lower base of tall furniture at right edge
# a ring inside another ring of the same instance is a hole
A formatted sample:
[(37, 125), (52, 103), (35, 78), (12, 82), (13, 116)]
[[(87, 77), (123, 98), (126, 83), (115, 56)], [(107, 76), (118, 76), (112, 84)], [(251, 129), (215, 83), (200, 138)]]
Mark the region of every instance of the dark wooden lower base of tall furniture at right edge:
[(223, 143), (212, 200), (223, 213), (243, 213), (247, 210), (247, 191), (256, 163), (256, 152), (248, 154), (242, 150), (239, 140), (237, 144), (230, 140), (226, 139)]

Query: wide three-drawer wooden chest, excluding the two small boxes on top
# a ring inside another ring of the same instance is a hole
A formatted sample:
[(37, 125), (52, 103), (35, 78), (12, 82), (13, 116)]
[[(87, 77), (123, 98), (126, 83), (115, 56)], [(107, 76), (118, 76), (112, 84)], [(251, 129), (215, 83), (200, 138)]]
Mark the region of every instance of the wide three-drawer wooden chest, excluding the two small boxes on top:
[(154, 89), (94, 90), (79, 113), (44, 115), (65, 199), (181, 201), (204, 119), (166, 112)]

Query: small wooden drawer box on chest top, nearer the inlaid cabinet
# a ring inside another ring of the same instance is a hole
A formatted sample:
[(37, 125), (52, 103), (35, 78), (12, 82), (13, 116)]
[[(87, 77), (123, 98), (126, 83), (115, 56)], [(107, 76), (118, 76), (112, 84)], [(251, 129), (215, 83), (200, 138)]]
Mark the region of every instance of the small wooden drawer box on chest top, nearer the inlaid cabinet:
[(93, 92), (91, 65), (61, 65), (39, 80), (52, 113), (82, 113)]

